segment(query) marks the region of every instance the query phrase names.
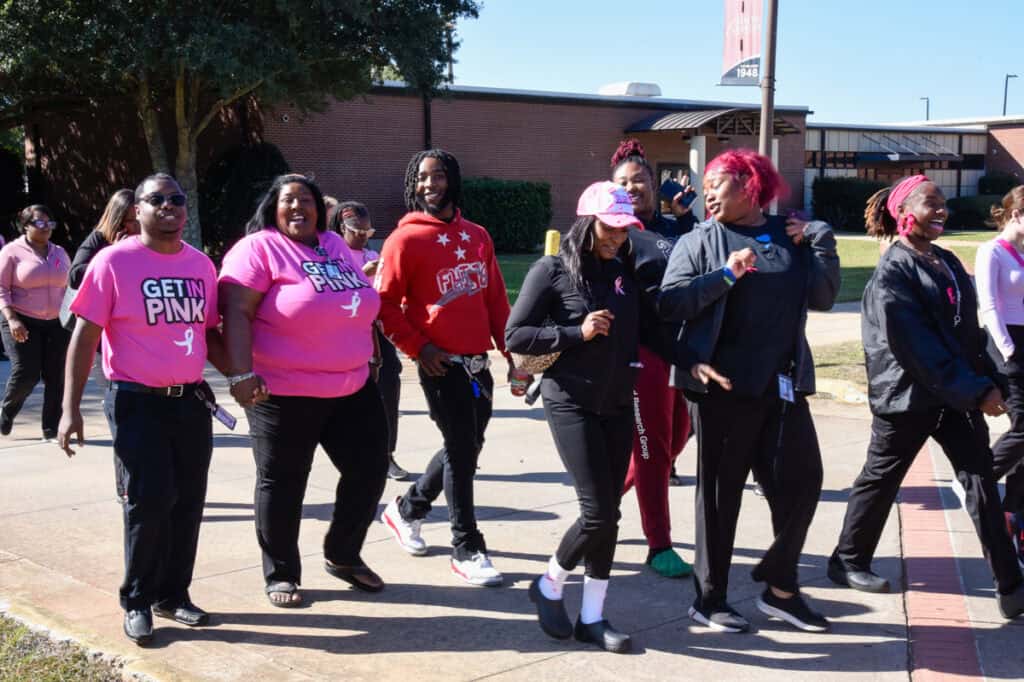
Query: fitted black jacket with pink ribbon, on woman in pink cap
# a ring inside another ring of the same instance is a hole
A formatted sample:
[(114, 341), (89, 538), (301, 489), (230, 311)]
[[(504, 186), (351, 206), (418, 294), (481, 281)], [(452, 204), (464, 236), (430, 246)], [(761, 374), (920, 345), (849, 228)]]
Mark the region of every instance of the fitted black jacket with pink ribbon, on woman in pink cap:
[[(545, 400), (568, 402), (598, 415), (616, 415), (633, 406), (636, 380), (639, 288), (620, 260), (587, 256), (584, 274), (591, 295), (581, 295), (558, 256), (529, 268), (505, 328), (509, 351), (543, 355), (561, 351), (541, 379)], [(583, 321), (607, 308), (615, 318), (608, 336), (583, 340)]]

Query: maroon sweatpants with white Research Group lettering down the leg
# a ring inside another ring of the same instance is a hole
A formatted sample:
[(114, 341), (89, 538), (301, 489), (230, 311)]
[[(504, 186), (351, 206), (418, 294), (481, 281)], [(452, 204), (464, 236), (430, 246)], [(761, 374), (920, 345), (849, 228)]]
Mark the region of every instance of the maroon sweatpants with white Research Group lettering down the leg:
[(623, 493), (636, 485), (647, 546), (664, 549), (672, 546), (669, 474), (686, 445), (690, 418), (683, 392), (669, 386), (669, 364), (644, 346), (640, 361), (633, 389), (633, 458)]

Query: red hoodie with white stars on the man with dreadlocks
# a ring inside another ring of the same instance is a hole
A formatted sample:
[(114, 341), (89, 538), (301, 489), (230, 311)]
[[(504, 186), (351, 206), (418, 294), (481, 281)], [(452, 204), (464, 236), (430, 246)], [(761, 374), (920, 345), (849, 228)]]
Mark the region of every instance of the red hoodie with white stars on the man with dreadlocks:
[(384, 242), (375, 286), (384, 333), (410, 357), (427, 343), (460, 355), (504, 352), (509, 298), (495, 245), (460, 211), (452, 222), (407, 213)]

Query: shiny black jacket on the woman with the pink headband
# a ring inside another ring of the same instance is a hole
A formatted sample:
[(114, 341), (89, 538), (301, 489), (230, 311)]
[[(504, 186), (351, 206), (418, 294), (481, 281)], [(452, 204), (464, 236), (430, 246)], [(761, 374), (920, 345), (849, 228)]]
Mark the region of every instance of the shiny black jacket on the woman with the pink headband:
[(877, 415), (974, 410), (996, 383), (971, 278), (955, 255), (932, 248), (959, 286), (956, 327), (948, 274), (933, 271), (900, 242), (882, 256), (864, 288), (860, 331), (867, 397)]

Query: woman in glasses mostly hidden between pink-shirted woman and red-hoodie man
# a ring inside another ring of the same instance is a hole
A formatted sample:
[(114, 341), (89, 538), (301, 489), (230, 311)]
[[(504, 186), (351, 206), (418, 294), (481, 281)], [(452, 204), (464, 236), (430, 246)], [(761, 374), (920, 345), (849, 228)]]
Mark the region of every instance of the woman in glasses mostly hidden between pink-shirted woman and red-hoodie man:
[[(356, 265), (362, 268), (362, 273), (371, 281), (377, 274), (377, 265), (381, 255), (370, 249), (368, 243), (374, 236), (374, 227), (370, 222), (370, 211), (359, 202), (342, 202), (331, 209), (328, 218), (328, 229), (338, 232), (345, 239), (348, 250)], [(377, 387), (384, 400), (384, 411), (387, 414), (387, 452), (388, 478), (406, 480), (409, 472), (394, 461), (394, 451), (398, 444), (398, 400), (401, 397), (401, 360), (394, 344), (387, 340), (380, 329), (376, 330), (377, 346), (381, 349), (381, 371)]]

